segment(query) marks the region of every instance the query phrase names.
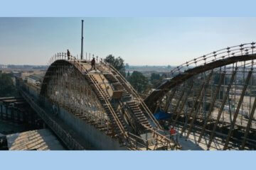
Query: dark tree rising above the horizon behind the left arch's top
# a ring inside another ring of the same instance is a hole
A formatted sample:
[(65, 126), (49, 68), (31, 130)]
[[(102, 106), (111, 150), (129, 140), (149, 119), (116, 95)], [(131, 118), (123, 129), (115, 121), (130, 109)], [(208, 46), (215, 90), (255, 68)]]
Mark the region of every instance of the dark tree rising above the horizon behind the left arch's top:
[(105, 62), (110, 63), (118, 72), (120, 72), (125, 77), (125, 66), (124, 60), (121, 57), (114, 57), (113, 55), (108, 55)]

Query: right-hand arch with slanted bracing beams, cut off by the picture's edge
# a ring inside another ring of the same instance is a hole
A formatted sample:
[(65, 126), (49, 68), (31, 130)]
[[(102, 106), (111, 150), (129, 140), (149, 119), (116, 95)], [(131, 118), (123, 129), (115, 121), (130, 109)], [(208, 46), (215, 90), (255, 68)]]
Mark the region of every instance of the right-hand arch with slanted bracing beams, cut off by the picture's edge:
[(255, 42), (227, 47), (171, 70), (144, 99), (152, 113), (203, 149), (256, 149)]

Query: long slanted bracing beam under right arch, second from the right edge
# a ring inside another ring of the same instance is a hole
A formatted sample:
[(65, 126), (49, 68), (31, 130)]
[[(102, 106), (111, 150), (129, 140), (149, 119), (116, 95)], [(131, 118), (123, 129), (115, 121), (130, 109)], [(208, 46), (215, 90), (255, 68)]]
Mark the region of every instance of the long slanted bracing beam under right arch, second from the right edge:
[(223, 150), (227, 149), (228, 147), (228, 142), (230, 141), (230, 137), (232, 135), (232, 132), (233, 132), (233, 129), (235, 127), (235, 121), (236, 119), (238, 118), (238, 113), (239, 113), (239, 110), (240, 110), (240, 106), (242, 105), (242, 101), (243, 101), (243, 98), (245, 96), (245, 91), (247, 89), (247, 86), (249, 84), (249, 81), (250, 81), (250, 77), (252, 76), (252, 71), (248, 72), (248, 75), (247, 75), (247, 78), (246, 78), (246, 81), (245, 81), (245, 86), (243, 87), (242, 89), (242, 94), (240, 96), (240, 99), (239, 99), (239, 102), (238, 102), (238, 107), (236, 108), (235, 110), (235, 114), (234, 114), (234, 117), (233, 117), (233, 120), (232, 120), (232, 123), (230, 125), (230, 130), (228, 131), (228, 137), (226, 138), (225, 140), (225, 145), (223, 147)]

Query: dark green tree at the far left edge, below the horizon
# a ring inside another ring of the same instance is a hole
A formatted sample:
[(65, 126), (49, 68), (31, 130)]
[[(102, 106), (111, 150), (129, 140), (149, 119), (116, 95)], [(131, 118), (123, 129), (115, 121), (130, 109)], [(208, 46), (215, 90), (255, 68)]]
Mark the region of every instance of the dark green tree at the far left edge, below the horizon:
[(0, 72), (0, 97), (16, 96), (16, 89), (11, 74)]

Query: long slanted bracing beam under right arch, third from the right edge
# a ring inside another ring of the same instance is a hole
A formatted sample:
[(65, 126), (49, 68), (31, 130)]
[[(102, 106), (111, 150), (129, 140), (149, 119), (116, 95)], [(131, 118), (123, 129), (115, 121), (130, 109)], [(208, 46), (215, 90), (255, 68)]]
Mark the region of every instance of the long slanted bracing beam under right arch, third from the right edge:
[(235, 70), (233, 71), (233, 74), (231, 76), (230, 82), (228, 84), (228, 88), (226, 89), (225, 97), (223, 98), (223, 102), (221, 103), (220, 110), (218, 111), (218, 116), (217, 116), (217, 119), (215, 120), (215, 123), (214, 123), (214, 126), (213, 126), (213, 130), (210, 133), (210, 139), (209, 139), (209, 142), (208, 142), (208, 145), (207, 145), (207, 149), (210, 148), (211, 142), (213, 141), (213, 137), (215, 135), (215, 130), (217, 128), (218, 122), (220, 121), (220, 116), (221, 116), (221, 113), (223, 112), (223, 108), (225, 106), (225, 102), (227, 101), (227, 98), (229, 96), (229, 91), (230, 91), (231, 85), (233, 84), (233, 81), (235, 79), (235, 74), (237, 73), (237, 70), (238, 70), (238, 67), (235, 67)]

